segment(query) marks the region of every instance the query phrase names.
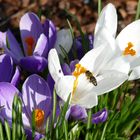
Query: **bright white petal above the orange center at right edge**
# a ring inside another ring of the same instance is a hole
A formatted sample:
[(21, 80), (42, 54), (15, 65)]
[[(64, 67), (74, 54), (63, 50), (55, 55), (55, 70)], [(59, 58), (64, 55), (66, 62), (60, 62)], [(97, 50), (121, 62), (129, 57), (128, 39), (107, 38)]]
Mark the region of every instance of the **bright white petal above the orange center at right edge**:
[(116, 41), (117, 45), (123, 51), (128, 42), (132, 42), (137, 53), (140, 55), (140, 20), (136, 20), (126, 26), (120, 34), (117, 36)]

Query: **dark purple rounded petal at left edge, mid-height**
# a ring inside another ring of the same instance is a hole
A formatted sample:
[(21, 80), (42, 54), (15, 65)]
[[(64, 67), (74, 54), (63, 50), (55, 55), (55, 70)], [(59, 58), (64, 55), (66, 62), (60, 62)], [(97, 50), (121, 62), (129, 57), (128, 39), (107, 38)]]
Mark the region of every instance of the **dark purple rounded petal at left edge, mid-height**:
[(6, 54), (0, 55), (0, 82), (10, 82), (12, 74), (12, 58)]

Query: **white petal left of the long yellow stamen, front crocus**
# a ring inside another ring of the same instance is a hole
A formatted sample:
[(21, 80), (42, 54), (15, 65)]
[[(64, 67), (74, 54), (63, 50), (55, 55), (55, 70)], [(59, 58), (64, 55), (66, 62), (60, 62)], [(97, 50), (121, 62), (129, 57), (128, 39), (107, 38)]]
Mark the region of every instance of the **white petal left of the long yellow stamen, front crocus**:
[(73, 91), (74, 79), (73, 76), (62, 76), (55, 83), (56, 93), (65, 102), (67, 101), (69, 94)]

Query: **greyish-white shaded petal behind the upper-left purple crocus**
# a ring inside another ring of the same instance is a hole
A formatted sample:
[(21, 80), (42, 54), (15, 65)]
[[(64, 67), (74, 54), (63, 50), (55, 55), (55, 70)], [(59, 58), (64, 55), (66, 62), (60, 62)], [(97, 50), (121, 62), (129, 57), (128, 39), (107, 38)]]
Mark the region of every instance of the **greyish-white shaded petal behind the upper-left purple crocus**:
[[(57, 39), (54, 47), (57, 50), (58, 54), (64, 57), (65, 55), (62, 49), (64, 49), (68, 53), (72, 47), (72, 43), (73, 40), (69, 29), (62, 29), (57, 32)], [(63, 48), (61, 49), (61, 47)]]

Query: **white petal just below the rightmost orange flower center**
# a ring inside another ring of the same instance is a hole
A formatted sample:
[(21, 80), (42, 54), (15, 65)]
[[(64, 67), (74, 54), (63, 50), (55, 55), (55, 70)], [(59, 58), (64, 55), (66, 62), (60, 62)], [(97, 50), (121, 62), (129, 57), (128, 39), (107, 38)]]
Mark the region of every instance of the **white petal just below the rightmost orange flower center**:
[(109, 61), (109, 63), (103, 68), (103, 71), (104, 70), (116, 70), (128, 74), (130, 65), (123, 59), (123, 57), (117, 57)]

